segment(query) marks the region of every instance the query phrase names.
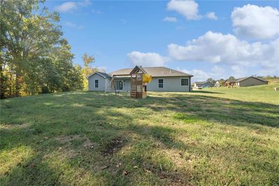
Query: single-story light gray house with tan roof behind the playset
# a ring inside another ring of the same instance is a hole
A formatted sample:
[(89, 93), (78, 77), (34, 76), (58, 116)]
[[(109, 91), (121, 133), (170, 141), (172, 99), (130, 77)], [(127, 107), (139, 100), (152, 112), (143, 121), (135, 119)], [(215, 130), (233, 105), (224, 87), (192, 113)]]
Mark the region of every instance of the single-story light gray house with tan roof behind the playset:
[[(147, 84), (148, 91), (190, 92), (191, 77), (184, 72), (165, 67), (143, 68), (152, 80)], [(130, 91), (130, 72), (133, 68), (123, 68), (110, 73), (95, 72), (87, 77), (89, 91), (114, 91), (111, 82), (114, 81), (116, 91)]]

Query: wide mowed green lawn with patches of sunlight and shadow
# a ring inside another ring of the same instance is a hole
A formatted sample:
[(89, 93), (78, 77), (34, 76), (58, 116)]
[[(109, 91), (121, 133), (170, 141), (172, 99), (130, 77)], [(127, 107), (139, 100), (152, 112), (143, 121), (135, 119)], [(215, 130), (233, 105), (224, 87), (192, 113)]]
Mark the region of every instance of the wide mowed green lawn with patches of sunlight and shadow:
[(275, 86), (1, 100), (0, 185), (278, 185)]

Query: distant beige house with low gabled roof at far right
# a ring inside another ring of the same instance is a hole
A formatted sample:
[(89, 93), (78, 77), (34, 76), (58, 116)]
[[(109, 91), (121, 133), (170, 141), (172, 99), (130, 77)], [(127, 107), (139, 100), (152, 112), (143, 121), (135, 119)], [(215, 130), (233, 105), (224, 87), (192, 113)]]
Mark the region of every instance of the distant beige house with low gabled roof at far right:
[(262, 78), (262, 77), (242, 77), (239, 79), (236, 79), (236, 86), (257, 86), (262, 84), (268, 84), (269, 82)]

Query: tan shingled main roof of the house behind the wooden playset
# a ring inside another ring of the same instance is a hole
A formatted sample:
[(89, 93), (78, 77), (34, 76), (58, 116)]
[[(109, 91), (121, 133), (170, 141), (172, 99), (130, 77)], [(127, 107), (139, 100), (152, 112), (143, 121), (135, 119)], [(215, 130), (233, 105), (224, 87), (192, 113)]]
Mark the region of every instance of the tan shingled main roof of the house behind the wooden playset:
[[(133, 68), (123, 68), (121, 70), (116, 70), (114, 72), (110, 72), (110, 75), (130, 75), (130, 72)], [(146, 71), (147, 74), (151, 75), (152, 77), (173, 77), (173, 76), (190, 76), (193, 75), (186, 74), (184, 72), (179, 72), (178, 70), (173, 70), (166, 67), (144, 67), (143, 70)]]

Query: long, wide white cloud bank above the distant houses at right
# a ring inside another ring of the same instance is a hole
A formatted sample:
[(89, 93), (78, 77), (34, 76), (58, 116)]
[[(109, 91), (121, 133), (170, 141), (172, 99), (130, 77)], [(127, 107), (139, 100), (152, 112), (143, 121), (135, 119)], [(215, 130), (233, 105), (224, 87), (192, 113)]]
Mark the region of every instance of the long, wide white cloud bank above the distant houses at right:
[(168, 45), (169, 56), (178, 61), (205, 61), (227, 65), (274, 68), (278, 66), (279, 39), (263, 44), (248, 43), (231, 34), (208, 31), (204, 36), (189, 41), (186, 46)]

